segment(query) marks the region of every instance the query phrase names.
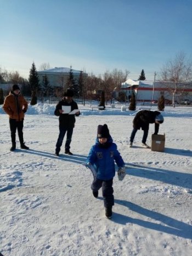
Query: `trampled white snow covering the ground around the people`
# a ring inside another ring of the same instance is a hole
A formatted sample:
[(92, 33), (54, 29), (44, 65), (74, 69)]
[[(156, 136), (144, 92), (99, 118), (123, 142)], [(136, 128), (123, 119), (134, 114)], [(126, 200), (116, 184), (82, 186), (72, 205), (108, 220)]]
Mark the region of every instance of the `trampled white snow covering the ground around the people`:
[[(54, 104), (29, 106), (24, 138), (29, 151), (10, 152), (8, 116), (0, 107), (0, 251), (19, 255), (191, 255), (191, 107), (166, 107), (165, 152), (140, 147), (138, 131), (128, 147), (135, 112), (93, 110), (81, 115), (71, 142), (74, 155), (54, 155), (58, 117)], [(152, 110), (156, 110), (153, 106)], [(114, 177), (115, 205), (106, 219), (103, 198), (91, 191), (92, 174), (83, 166), (98, 124), (108, 124), (127, 175)], [(150, 125), (148, 143), (154, 132)], [(18, 140), (18, 137), (16, 137)], [(64, 138), (65, 141), (65, 138)]]

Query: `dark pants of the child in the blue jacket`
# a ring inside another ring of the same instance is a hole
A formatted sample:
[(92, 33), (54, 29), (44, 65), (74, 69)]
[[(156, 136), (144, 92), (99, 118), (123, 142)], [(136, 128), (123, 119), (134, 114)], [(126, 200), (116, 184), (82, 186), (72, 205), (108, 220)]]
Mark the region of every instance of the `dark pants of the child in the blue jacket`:
[(114, 205), (114, 189), (112, 188), (112, 182), (111, 180), (99, 180), (94, 179), (91, 189), (93, 191), (98, 191), (99, 188), (102, 187), (102, 193), (103, 193), (103, 199), (104, 199), (104, 207), (112, 207)]

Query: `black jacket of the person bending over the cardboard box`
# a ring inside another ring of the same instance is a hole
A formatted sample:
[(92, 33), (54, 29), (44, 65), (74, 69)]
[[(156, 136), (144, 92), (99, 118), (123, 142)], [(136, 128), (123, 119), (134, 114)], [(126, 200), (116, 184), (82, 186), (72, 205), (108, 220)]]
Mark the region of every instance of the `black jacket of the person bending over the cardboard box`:
[[(133, 119), (133, 127), (135, 129), (149, 130), (149, 124), (155, 123), (157, 115), (161, 114), (159, 111), (140, 110)], [(155, 133), (159, 132), (159, 124), (155, 123)]]

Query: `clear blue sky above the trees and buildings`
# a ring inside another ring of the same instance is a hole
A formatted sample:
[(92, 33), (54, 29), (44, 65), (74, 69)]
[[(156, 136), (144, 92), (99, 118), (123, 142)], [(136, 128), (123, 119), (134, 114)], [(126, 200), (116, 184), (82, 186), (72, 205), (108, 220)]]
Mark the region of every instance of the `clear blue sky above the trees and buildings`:
[(183, 51), (192, 56), (191, 0), (0, 0), (0, 67), (31, 64), (146, 79)]

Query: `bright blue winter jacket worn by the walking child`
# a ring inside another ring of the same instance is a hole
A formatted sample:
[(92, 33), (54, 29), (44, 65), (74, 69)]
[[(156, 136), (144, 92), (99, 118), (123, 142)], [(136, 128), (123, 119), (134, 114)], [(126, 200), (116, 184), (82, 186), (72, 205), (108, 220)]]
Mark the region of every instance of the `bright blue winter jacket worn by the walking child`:
[[(117, 150), (117, 145), (112, 142), (111, 136), (107, 141), (109, 147), (100, 147), (98, 138), (89, 151), (86, 163), (91, 163), (97, 171), (97, 179), (110, 180), (115, 176), (115, 162), (119, 168), (125, 163)], [(115, 161), (115, 162), (114, 162)]]

